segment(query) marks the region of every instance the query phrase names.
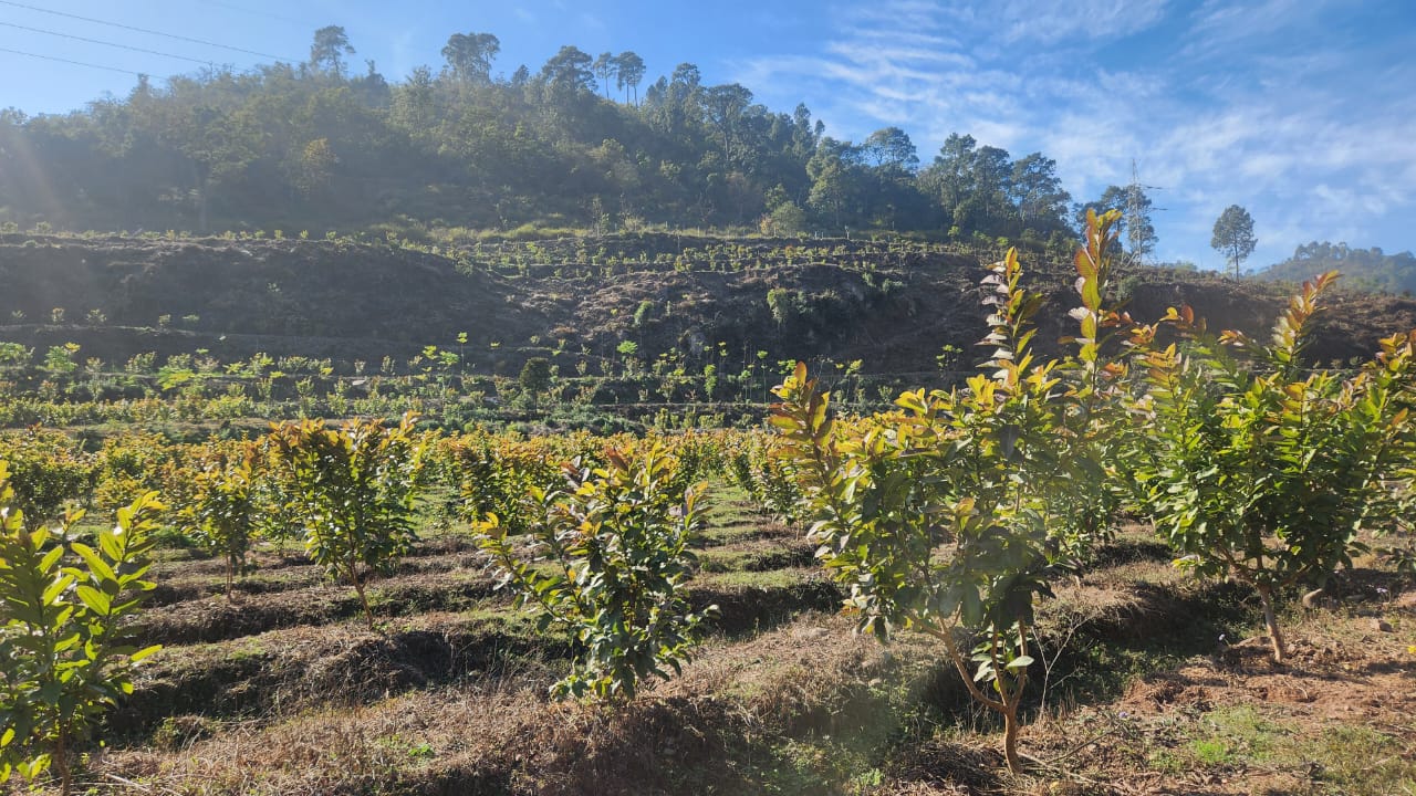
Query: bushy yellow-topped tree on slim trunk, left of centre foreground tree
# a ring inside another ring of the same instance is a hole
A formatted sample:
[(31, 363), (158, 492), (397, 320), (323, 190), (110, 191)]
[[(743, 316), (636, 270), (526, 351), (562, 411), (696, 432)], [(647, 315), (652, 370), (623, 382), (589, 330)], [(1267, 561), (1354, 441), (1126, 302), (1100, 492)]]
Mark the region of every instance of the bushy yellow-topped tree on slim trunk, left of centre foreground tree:
[(323, 421), (275, 426), (270, 445), (283, 470), (290, 508), (304, 525), (304, 548), (330, 575), (354, 586), (370, 630), (367, 585), (416, 541), (413, 500), (428, 439), (416, 415), (396, 426)]

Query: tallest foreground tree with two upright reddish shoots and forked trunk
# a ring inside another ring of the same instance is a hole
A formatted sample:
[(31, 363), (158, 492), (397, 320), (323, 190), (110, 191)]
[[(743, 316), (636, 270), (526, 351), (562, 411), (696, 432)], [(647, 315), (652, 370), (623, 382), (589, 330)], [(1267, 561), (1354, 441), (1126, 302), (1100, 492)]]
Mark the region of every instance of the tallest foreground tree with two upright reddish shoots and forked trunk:
[(1126, 322), (1104, 306), (1116, 218), (1093, 212), (1076, 258), (1078, 358), (1032, 353), (1042, 296), (1022, 288), (1010, 251), (984, 280), (991, 356), (964, 390), (905, 392), (896, 411), (834, 418), (830, 394), (799, 364), (772, 411), (814, 516), (817, 558), (850, 589), (847, 610), (881, 637), (909, 627), (937, 639), (974, 700), (1003, 715), (1014, 772), (1034, 603), (1106, 527), (1079, 507), (1113, 503), (1092, 457), (1103, 428), (1093, 415), (1124, 377), (1103, 344)]

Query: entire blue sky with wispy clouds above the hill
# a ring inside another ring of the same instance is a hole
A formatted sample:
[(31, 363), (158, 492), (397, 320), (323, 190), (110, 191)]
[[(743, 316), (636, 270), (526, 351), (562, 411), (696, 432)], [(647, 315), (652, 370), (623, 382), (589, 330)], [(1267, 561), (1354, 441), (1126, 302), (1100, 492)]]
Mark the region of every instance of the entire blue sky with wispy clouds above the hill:
[(238, 69), (270, 59), (212, 44), (302, 59), (326, 24), (389, 79), (436, 67), (447, 35), (467, 31), (501, 40), (506, 74), (562, 44), (633, 50), (646, 84), (688, 61), (775, 110), (806, 102), (837, 137), (901, 126), (926, 163), (950, 132), (1014, 157), (1041, 150), (1079, 200), (1129, 181), (1134, 159), (1164, 208), (1163, 259), (1219, 266), (1209, 237), (1229, 204), (1255, 218), (1250, 265), (1313, 239), (1416, 248), (1410, 0), (0, 0), (0, 106), (65, 112), (136, 79), (4, 50), (160, 78), (200, 68), (169, 55)]

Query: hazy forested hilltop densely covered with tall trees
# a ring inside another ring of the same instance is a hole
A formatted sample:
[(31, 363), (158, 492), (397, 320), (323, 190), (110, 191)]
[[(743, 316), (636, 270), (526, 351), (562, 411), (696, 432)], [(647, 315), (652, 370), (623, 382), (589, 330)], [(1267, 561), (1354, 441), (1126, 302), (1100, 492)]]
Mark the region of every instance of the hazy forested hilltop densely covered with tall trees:
[[(1045, 241), (1080, 204), (1042, 153), (953, 135), (920, 163), (909, 135), (824, 135), (799, 105), (704, 85), (692, 64), (647, 78), (633, 52), (562, 47), (497, 64), (491, 34), (455, 34), (445, 64), (389, 81), (350, 65), (343, 28), (310, 59), (204, 71), (68, 115), (0, 112), (0, 224), (177, 232), (878, 228)], [(504, 75), (510, 76), (504, 76)], [(1144, 210), (1113, 187), (1093, 204)], [(1133, 212), (1133, 217), (1136, 214)], [(41, 227), (42, 229), (42, 227)], [(1144, 221), (1126, 237), (1146, 248)]]

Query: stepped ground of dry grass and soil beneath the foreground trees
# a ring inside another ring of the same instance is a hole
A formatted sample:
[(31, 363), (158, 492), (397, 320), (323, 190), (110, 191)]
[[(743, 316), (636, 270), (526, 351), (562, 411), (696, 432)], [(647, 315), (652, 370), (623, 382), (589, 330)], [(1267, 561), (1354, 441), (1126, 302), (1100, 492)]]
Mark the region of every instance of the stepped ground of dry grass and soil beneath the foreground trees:
[[(81, 785), (130, 793), (1412, 793), (1416, 591), (1358, 567), (1296, 608), (1274, 667), (1256, 601), (1199, 584), (1133, 525), (1038, 622), (1034, 768), (918, 635), (835, 616), (799, 530), (716, 483), (694, 541), (716, 603), (683, 677), (629, 704), (548, 700), (564, 642), (493, 588), (457, 531), (371, 584), (290, 550), (224, 596), (219, 561), (164, 550), (140, 633), (164, 649), (106, 720)], [(1406, 591), (1403, 592), (1403, 586)], [(1379, 630), (1385, 622), (1388, 630)]]

